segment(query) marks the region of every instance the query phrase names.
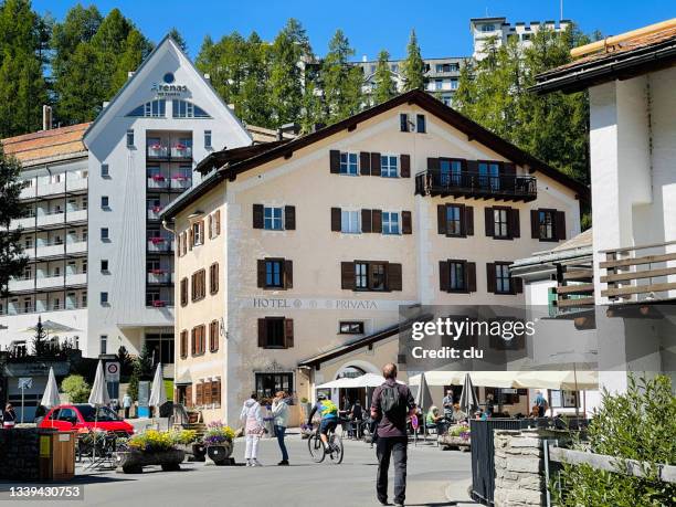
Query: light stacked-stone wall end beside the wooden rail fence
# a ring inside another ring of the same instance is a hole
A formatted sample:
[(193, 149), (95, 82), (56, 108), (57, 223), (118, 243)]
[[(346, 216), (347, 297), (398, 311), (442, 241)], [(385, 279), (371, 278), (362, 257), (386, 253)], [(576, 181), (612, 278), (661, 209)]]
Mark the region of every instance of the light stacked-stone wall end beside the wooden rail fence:
[(495, 507), (546, 505), (542, 436), (537, 430), (495, 432)]

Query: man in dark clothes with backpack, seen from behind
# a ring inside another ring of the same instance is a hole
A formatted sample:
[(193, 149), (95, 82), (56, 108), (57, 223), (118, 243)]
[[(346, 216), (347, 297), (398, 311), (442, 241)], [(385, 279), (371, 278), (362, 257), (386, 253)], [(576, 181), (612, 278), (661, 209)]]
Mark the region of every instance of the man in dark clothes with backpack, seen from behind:
[(397, 365), (382, 368), (385, 381), (376, 388), (371, 418), (378, 420), (378, 479), (376, 493), (381, 505), (388, 505), (388, 469), (394, 458), (394, 505), (403, 506), (406, 495), (406, 416), (415, 413), (415, 401), (408, 385), (397, 383)]

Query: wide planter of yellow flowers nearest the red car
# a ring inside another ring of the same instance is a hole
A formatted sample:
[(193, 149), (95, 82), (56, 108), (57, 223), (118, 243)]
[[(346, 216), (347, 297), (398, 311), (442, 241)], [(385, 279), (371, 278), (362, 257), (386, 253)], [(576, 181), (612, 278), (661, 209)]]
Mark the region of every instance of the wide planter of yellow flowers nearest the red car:
[(125, 474), (140, 474), (144, 466), (160, 465), (162, 471), (178, 471), (186, 457), (176, 448), (171, 432), (146, 430), (118, 444), (115, 463)]

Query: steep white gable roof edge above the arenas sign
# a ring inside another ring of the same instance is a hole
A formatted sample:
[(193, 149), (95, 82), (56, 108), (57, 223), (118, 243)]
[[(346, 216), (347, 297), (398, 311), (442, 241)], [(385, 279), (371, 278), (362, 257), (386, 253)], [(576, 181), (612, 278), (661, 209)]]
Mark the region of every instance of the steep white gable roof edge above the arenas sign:
[(146, 60), (144, 60), (141, 62), (141, 64), (138, 66), (138, 68), (136, 70), (136, 72), (134, 73), (134, 75), (127, 80), (127, 82), (124, 84), (124, 86), (122, 88), (119, 88), (119, 91), (115, 94), (115, 96), (110, 99), (110, 102), (108, 103), (108, 105), (106, 107), (104, 107), (104, 109), (98, 114), (98, 116), (96, 117), (96, 119), (92, 123), (92, 125), (89, 125), (89, 127), (87, 128), (87, 130), (85, 131), (84, 135), (84, 141), (85, 145), (88, 145), (88, 138), (94, 135), (95, 130), (98, 128), (98, 126), (101, 124), (104, 123), (105, 118), (110, 114), (110, 112), (115, 110), (117, 103), (120, 101), (120, 97), (123, 97), (126, 92), (144, 75), (144, 71), (146, 68), (149, 67), (150, 62), (152, 62), (156, 59), (156, 55), (158, 55), (160, 52), (162, 51), (168, 51), (169, 49), (172, 49), (173, 51), (177, 52), (177, 54), (179, 54), (180, 56), (182, 56), (184, 59), (184, 61), (187, 62), (189, 68), (192, 71), (193, 75), (196, 76), (196, 78), (203, 84), (204, 86), (207, 86), (211, 93), (213, 94), (213, 96), (216, 98), (218, 103), (222, 106), (223, 112), (226, 116), (229, 116), (241, 129), (242, 136), (243, 138), (247, 138), (249, 142), (251, 142), (251, 135), (249, 134), (249, 131), (246, 130), (246, 128), (244, 128), (244, 126), (242, 125), (242, 123), (240, 122), (240, 119), (232, 113), (232, 110), (230, 109), (230, 107), (228, 107), (228, 104), (225, 104), (223, 102), (223, 99), (221, 98), (221, 96), (219, 95), (219, 93), (213, 88), (213, 86), (211, 85), (211, 83), (209, 83), (209, 81), (207, 81), (204, 78), (204, 76), (202, 75), (201, 72), (199, 72), (197, 70), (197, 67), (194, 66), (194, 64), (192, 63), (192, 61), (190, 60), (190, 57), (183, 52), (183, 50), (181, 50), (181, 47), (176, 43), (176, 41), (173, 39), (171, 39), (170, 35), (165, 35), (165, 38), (159, 42), (159, 44), (157, 44), (152, 51), (150, 52), (150, 54), (148, 55), (148, 57), (146, 57)]

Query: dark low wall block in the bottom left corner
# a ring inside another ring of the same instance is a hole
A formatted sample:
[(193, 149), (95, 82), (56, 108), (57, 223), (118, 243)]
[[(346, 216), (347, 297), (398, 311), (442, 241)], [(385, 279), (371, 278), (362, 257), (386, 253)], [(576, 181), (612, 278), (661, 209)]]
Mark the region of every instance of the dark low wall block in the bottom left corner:
[(0, 479), (40, 478), (40, 434), (34, 427), (0, 430)]

